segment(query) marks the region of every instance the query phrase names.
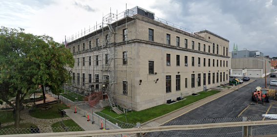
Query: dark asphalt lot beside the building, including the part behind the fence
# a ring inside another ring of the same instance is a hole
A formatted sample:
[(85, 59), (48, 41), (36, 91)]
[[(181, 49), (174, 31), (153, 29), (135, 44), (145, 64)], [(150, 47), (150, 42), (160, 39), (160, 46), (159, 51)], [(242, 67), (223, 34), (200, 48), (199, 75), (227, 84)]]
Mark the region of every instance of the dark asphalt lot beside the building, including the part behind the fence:
[[(252, 78), (255, 79), (255, 78)], [(267, 87), (277, 89), (277, 86), (270, 86), (270, 80), (277, 78), (267, 78)], [(270, 104), (256, 104), (251, 99), (252, 92), (257, 86), (264, 87), (265, 79), (256, 78), (256, 81), (239, 88), (225, 96), (222, 96), (212, 102), (209, 102), (199, 108), (192, 110), (187, 114), (183, 114), (165, 125), (184, 125), (184, 124), (201, 124), (201, 123), (217, 123), (217, 122), (235, 122), (242, 121), (241, 116), (252, 117), (250, 120), (262, 120), (261, 114), (265, 114), (270, 108)], [(254, 104), (254, 105), (252, 105)], [(254, 108), (254, 109), (251, 109)], [(262, 108), (262, 109), (261, 109)], [(277, 109), (271, 107), (274, 114)], [(277, 107), (276, 107), (277, 108)], [(260, 110), (255, 110), (260, 109)], [(257, 113), (258, 112), (258, 113)], [(276, 112), (277, 113), (277, 112)], [(240, 117), (238, 117), (240, 116)], [(259, 116), (259, 117), (253, 117)], [(218, 119), (219, 118), (219, 119)], [(257, 127), (253, 127), (254, 129)], [(258, 127), (261, 128), (261, 127)], [(254, 135), (276, 134), (277, 126), (267, 128), (265, 130), (254, 130)], [(241, 137), (241, 127), (219, 128), (207, 130), (189, 130), (189, 131), (169, 131), (154, 132), (146, 134), (146, 137)]]

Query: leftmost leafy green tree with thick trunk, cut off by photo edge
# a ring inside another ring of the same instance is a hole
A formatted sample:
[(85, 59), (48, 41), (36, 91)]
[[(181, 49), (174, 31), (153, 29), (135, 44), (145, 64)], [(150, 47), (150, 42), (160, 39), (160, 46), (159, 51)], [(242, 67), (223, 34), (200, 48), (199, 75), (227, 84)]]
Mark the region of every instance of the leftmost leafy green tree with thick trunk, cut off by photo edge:
[[(36, 37), (24, 29), (0, 28), (0, 98), (14, 108), (15, 126), (19, 127), (22, 101), (36, 85), (34, 63), (28, 58)], [(15, 102), (9, 100), (15, 97)]]

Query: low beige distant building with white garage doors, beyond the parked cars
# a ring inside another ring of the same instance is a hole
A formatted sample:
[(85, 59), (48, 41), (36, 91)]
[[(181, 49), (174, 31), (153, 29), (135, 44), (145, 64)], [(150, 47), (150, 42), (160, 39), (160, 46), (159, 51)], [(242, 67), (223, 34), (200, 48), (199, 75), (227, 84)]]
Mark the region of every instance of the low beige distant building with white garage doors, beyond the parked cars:
[(257, 50), (233, 51), (231, 68), (230, 75), (232, 76), (264, 77), (265, 72), (266, 75), (270, 74), (270, 60), (262, 52)]

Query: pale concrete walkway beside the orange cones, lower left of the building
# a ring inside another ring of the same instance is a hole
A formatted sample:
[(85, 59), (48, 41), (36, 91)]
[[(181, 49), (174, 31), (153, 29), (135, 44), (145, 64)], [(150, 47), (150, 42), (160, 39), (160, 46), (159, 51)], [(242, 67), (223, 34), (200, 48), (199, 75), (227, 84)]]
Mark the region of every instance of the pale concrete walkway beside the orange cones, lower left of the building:
[(66, 109), (64, 111), (66, 112), (67, 116), (69, 116), (72, 120), (74, 120), (85, 131), (100, 130), (99, 125), (91, 124), (92, 123), (91, 120), (86, 121), (87, 118), (84, 117), (82, 114), (74, 113), (74, 110), (72, 110), (72, 109)]

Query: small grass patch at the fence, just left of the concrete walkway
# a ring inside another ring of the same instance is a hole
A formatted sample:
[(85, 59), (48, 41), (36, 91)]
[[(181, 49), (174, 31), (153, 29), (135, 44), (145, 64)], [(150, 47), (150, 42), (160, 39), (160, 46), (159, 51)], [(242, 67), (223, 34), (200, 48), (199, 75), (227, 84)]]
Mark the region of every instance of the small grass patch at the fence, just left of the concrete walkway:
[[(64, 125), (69, 128), (69, 131), (85, 131), (82, 129), (77, 123), (75, 123), (72, 119), (64, 120)], [(51, 125), (53, 132), (65, 132), (62, 127), (61, 122), (56, 122)]]

